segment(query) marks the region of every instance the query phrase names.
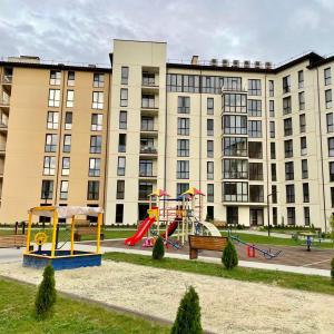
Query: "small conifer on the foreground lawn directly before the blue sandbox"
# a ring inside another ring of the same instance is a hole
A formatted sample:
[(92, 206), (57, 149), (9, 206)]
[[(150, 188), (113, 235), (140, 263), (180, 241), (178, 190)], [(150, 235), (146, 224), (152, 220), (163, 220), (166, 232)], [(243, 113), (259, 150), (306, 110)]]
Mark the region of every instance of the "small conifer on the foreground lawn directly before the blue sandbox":
[(57, 292), (55, 282), (55, 269), (48, 265), (43, 272), (43, 279), (38, 287), (35, 310), (38, 317), (45, 318), (52, 313), (56, 303)]

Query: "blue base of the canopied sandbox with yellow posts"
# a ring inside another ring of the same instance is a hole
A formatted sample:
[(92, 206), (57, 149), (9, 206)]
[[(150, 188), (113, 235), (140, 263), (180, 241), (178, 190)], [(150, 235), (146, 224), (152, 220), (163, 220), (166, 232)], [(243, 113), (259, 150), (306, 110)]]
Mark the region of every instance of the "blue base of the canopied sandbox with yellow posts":
[(51, 250), (23, 254), (23, 267), (43, 268), (51, 265), (55, 271), (62, 271), (101, 265), (101, 254), (75, 250), (75, 255), (70, 255), (70, 250), (57, 250), (57, 257), (51, 258), (50, 255)]

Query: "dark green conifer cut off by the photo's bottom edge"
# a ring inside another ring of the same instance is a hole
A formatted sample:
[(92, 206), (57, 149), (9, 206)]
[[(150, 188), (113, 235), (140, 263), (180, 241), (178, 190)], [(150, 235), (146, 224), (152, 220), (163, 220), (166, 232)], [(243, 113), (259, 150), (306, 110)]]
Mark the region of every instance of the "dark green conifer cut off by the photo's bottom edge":
[(190, 286), (181, 298), (171, 334), (200, 334), (200, 307), (199, 298), (193, 286)]

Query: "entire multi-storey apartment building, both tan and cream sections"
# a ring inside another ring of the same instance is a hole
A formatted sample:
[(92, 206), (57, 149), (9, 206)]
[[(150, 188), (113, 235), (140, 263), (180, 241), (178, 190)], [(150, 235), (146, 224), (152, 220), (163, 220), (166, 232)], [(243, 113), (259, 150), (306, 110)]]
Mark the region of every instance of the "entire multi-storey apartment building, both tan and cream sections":
[(328, 228), (333, 57), (168, 62), (165, 42), (115, 40), (110, 62), (0, 62), (0, 223), (59, 204), (134, 224), (155, 188), (195, 186), (217, 220)]

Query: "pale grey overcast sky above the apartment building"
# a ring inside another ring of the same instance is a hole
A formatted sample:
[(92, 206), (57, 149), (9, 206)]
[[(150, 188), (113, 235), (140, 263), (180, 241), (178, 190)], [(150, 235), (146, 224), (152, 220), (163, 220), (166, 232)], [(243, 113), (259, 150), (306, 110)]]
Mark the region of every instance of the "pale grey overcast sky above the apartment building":
[(112, 39), (167, 41), (169, 59), (275, 63), (334, 52), (334, 0), (0, 0), (0, 55), (109, 63)]

